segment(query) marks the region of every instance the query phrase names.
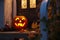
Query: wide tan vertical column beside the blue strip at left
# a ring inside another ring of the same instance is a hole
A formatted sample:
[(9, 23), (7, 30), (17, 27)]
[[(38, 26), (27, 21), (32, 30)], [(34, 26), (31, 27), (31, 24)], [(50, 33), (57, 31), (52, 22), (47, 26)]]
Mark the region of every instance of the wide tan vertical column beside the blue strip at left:
[(4, 22), (11, 26), (12, 22), (12, 0), (4, 0)]

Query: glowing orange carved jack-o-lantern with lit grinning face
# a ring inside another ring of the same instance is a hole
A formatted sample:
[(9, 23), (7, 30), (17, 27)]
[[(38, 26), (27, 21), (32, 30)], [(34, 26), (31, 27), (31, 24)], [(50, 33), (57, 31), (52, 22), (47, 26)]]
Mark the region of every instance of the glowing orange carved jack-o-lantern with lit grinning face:
[(27, 18), (25, 16), (16, 16), (13, 25), (16, 29), (24, 29), (27, 26)]

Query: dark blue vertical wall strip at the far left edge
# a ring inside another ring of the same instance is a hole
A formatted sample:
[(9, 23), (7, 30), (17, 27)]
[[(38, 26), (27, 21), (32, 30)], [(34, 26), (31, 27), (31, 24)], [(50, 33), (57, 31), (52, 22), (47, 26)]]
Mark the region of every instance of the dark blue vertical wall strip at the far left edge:
[(4, 27), (4, 0), (0, 0), (0, 28)]

